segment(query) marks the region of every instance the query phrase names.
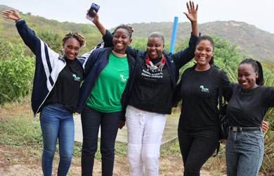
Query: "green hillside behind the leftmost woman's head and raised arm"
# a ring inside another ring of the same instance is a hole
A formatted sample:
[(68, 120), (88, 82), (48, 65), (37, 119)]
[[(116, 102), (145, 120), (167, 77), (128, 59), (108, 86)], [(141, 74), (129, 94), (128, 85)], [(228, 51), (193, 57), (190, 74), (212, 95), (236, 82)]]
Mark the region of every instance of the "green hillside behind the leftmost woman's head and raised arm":
[[(11, 9), (11, 7), (0, 5), (0, 11), (6, 9)], [(48, 20), (38, 15), (31, 15), (31, 13), (20, 13), (20, 16), (27, 21), (27, 25), (35, 31), (38, 37), (40, 37), (39, 34), (41, 34), (41, 32), (57, 34), (56, 37), (58, 37), (60, 46), (62, 44), (61, 40), (67, 32), (78, 32), (79, 34), (84, 35), (86, 39), (86, 47), (81, 48), (80, 54), (90, 51), (94, 46), (102, 42), (102, 36), (94, 25), (69, 22), (60, 23), (57, 20)], [(2, 15), (0, 17), (0, 39), (8, 40), (13, 44), (22, 43), (22, 39), (17, 32), (14, 21), (8, 20)], [(31, 54), (30, 49), (27, 49), (27, 54)]]

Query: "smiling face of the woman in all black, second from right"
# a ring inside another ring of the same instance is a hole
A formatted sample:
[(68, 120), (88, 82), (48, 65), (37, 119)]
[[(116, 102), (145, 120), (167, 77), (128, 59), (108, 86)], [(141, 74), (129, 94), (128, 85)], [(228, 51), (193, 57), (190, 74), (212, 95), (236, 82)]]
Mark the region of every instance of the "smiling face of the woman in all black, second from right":
[(207, 39), (202, 39), (197, 44), (195, 49), (195, 61), (197, 62), (197, 67), (208, 68), (210, 67), (209, 61), (213, 56), (213, 46), (211, 42)]

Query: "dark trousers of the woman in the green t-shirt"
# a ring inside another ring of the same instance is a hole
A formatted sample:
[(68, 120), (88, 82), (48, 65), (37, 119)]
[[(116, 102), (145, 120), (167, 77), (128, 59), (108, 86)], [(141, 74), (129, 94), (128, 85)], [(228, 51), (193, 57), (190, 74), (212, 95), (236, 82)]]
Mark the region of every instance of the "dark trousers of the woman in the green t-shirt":
[(115, 159), (115, 139), (122, 112), (101, 113), (85, 106), (81, 113), (83, 146), (81, 151), (81, 175), (92, 175), (94, 155), (97, 151), (98, 131), (101, 129), (100, 153), (102, 175), (112, 175)]

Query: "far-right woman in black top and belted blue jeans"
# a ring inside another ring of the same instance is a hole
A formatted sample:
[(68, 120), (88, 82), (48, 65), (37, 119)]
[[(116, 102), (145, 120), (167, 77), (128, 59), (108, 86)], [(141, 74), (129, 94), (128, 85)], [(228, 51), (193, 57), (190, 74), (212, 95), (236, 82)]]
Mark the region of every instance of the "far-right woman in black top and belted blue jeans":
[(232, 83), (233, 94), (226, 115), (230, 131), (226, 142), (228, 176), (258, 175), (263, 161), (264, 115), (274, 107), (274, 87), (263, 86), (263, 68), (259, 61), (244, 59), (238, 65), (238, 83)]

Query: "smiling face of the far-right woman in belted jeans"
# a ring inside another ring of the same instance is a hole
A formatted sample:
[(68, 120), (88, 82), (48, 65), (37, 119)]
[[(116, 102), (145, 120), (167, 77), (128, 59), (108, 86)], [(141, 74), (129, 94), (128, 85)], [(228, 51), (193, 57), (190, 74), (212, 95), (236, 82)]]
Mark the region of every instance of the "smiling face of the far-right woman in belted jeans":
[(255, 72), (252, 64), (242, 63), (238, 66), (237, 81), (245, 91), (249, 91), (258, 87), (256, 84), (256, 78), (258, 77), (259, 73)]

